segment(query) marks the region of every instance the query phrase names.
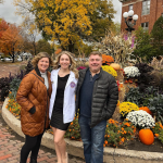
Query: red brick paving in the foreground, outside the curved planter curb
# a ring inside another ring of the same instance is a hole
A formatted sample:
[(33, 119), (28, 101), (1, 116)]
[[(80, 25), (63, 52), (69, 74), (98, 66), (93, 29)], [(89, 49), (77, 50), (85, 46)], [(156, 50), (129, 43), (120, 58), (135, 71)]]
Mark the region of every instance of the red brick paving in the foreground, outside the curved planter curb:
[[(24, 138), (20, 137), (5, 124), (1, 116), (0, 104), (0, 163), (20, 163), (20, 151), (24, 145)], [(68, 155), (70, 163), (85, 163), (82, 159)], [(29, 159), (28, 161), (29, 162)], [(46, 147), (40, 148), (38, 163), (55, 163), (54, 150)]]

